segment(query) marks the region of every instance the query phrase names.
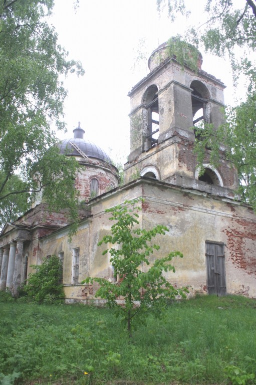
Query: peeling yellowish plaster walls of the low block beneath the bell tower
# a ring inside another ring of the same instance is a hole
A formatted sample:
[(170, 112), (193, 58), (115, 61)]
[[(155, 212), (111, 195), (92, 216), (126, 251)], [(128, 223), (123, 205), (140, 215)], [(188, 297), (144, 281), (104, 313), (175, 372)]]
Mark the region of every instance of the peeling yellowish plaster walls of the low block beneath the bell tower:
[[(79, 246), (79, 243), (80, 247), (89, 244), (84, 258), (88, 258), (88, 252), (90, 276), (113, 280), (110, 256), (102, 255), (110, 245), (97, 246), (102, 237), (110, 233), (112, 225), (108, 220), (109, 214), (104, 210), (141, 196), (145, 202), (139, 217), (140, 226), (150, 229), (156, 224), (162, 224), (169, 229), (165, 236), (154, 239), (161, 248), (151, 257), (151, 262), (171, 251), (180, 251), (184, 255), (182, 259), (173, 260), (176, 272), (167, 273), (173, 285), (189, 286), (191, 294), (206, 293), (205, 241), (222, 242), (225, 245), (227, 293), (256, 297), (256, 217), (253, 212), (231, 201), (206, 196), (198, 191), (185, 191), (167, 183), (138, 180), (129, 188), (120, 188), (117, 193), (93, 202), (90, 227), (80, 231), (78, 242), (72, 241), (66, 254), (71, 255), (72, 247)], [(65, 263), (67, 277), (71, 272), (71, 263), (66, 262), (66, 259)], [(96, 285), (65, 286), (67, 301), (93, 300), (96, 289)]]

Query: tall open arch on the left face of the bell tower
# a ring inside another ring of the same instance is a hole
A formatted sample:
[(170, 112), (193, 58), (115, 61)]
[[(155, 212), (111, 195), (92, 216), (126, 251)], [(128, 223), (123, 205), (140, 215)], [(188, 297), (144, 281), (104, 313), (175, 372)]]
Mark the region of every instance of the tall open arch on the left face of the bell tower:
[(159, 136), (159, 108), (158, 88), (150, 86), (143, 96), (143, 104), (146, 106), (146, 130), (144, 132), (144, 149), (148, 149), (158, 143)]

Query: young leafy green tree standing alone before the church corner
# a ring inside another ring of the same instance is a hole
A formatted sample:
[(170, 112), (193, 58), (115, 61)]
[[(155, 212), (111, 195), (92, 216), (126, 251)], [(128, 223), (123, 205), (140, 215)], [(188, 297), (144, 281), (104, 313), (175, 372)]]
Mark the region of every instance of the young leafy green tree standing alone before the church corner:
[[(152, 239), (157, 235), (163, 236), (168, 229), (161, 225), (152, 230), (137, 226), (141, 208), (136, 205), (141, 201), (126, 201), (124, 206), (106, 210), (111, 213), (110, 221), (115, 223), (111, 227), (111, 235), (103, 237), (98, 246), (103, 243), (112, 245), (103, 255), (110, 253), (118, 283), (111, 283), (104, 278), (86, 280), (87, 283), (95, 281), (100, 285), (96, 297), (106, 299), (117, 316), (121, 315), (129, 334), (136, 325), (145, 324), (148, 313), (154, 312), (160, 316), (168, 299), (178, 295), (184, 297), (186, 291), (174, 288), (163, 275), (163, 272), (175, 272), (170, 262), (174, 257), (182, 258), (182, 254), (171, 252), (160, 259), (153, 256), (160, 246), (154, 244)], [(154, 260), (150, 267), (149, 259)]]

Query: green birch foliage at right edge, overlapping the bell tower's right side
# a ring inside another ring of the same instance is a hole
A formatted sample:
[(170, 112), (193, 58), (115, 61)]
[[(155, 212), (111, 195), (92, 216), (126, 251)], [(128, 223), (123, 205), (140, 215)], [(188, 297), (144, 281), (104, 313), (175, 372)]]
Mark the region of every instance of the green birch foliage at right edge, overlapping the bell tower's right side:
[[(217, 129), (212, 124), (196, 128), (195, 148), (202, 165), (205, 148), (210, 148), (210, 162), (219, 165), (220, 143), (225, 144), (225, 156), (237, 169), (241, 200), (256, 211), (256, 93), (248, 95), (239, 106), (227, 110), (227, 123)], [(202, 167), (203, 170), (203, 167)]]

